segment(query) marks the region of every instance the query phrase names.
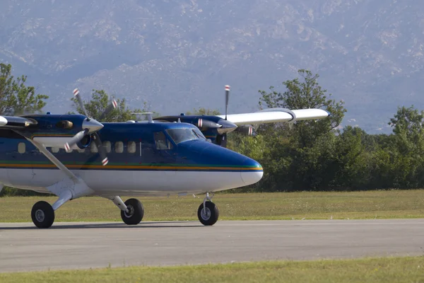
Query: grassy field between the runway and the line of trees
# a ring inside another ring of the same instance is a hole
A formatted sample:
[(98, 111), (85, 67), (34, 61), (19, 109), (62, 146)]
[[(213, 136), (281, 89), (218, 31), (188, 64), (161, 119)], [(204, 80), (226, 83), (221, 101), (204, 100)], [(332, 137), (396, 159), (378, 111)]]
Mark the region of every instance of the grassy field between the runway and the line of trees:
[[(126, 200), (126, 198), (123, 198)], [(140, 197), (143, 221), (197, 220), (203, 196)], [(38, 200), (53, 203), (55, 197), (0, 197), (0, 222), (31, 221)], [(424, 218), (424, 190), (370, 192), (276, 192), (217, 194), (213, 201), (220, 219), (383, 219)], [(83, 197), (64, 204), (55, 221), (121, 221), (110, 200)]]

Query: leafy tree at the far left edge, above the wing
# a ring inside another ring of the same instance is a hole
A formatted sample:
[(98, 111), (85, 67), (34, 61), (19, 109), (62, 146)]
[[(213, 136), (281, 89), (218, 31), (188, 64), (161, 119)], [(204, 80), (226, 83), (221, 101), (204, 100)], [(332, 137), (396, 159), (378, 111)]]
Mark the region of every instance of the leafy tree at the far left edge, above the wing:
[(12, 76), (11, 64), (0, 63), (0, 114), (23, 115), (39, 112), (46, 105), (43, 94), (35, 95), (33, 86), (25, 86), (27, 76)]

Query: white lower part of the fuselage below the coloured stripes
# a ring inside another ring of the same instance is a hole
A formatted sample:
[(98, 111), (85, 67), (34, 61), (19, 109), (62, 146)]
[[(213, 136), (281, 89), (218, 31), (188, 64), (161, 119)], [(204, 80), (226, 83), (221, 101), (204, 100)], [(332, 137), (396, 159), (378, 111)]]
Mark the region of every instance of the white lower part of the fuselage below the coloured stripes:
[[(167, 195), (216, 192), (256, 183), (261, 171), (72, 171), (95, 191), (95, 195)], [(242, 174), (243, 179), (242, 179)], [(250, 178), (246, 178), (246, 175)], [(22, 189), (44, 190), (66, 178), (59, 170), (0, 169), (0, 183)], [(259, 179), (258, 179), (259, 178)], [(245, 183), (247, 182), (247, 183)]]

